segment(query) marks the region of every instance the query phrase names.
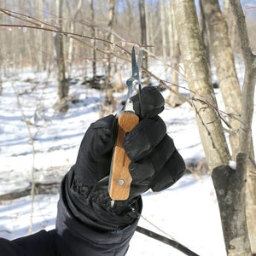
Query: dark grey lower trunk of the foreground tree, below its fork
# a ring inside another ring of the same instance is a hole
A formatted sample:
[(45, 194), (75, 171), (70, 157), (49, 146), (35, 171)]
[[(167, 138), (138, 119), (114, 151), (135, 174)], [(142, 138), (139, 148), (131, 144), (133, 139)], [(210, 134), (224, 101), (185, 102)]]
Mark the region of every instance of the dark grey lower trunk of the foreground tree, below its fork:
[(241, 172), (244, 160), (245, 154), (238, 154), (236, 170), (232, 170), (230, 166), (218, 166), (212, 171), (229, 256), (251, 255), (245, 214), (246, 172)]

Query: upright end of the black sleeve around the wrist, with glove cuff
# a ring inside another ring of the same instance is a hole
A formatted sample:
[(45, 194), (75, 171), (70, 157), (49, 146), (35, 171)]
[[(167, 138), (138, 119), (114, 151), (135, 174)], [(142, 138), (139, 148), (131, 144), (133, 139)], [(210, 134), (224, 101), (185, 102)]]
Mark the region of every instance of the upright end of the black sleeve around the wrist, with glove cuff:
[[(108, 190), (105, 192), (108, 194)], [(88, 192), (77, 183), (73, 169), (67, 173), (61, 186), (56, 233), (72, 254), (59, 248), (61, 255), (125, 255), (142, 211), (142, 200), (137, 198), (131, 212), (117, 214), (108, 207), (105, 192)]]

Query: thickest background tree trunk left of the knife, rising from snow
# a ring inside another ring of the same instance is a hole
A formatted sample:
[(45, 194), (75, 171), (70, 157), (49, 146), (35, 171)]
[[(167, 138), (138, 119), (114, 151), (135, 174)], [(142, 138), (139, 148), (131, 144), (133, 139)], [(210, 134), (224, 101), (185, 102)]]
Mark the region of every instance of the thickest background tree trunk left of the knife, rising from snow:
[[(55, 0), (55, 16), (58, 19), (59, 29), (62, 27), (62, 0)], [(55, 36), (55, 75), (57, 84), (57, 102), (55, 107), (58, 111), (67, 112), (66, 102), (69, 90), (69, 82), (66, 79), (66, 67), (63, 51), (63, 38), (61, 34)]]

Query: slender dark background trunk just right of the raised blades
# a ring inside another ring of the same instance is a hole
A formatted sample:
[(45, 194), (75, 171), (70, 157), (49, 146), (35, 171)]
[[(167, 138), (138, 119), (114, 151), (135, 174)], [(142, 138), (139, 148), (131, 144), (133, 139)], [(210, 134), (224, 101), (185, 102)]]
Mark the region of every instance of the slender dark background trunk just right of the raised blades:
[[(147, 45), (147, 29), (146, 29), (146, 15), (145, 15), (145, 1), (139, 0), (139, 11), (140, 11), (140, 20), (141, 20), (141, 39), (143, 46)], [(148, 69), (148, 56), (147, 53), (143, 50), (143, 67)], [(143, 72), (143, 79), (147, 80), (148, 76)], [(146, 81), (148, 83), (148, 81)]]

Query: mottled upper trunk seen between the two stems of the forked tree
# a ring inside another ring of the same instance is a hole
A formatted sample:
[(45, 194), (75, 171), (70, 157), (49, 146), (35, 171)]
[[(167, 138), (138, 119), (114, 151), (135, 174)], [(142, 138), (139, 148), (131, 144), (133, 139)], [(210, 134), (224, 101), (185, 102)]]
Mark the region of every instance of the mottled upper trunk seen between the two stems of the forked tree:
[(239, 148), (238, 131), (240, 127), (239, 119), (241, 118), (241, 90), (236, 75), (228, 26), (220, 11), (218, 1), (201, 0), (201, 3), (209, 29), (219, 88), (224, 99), (226, 112), (232, 115), (229, 117), (229, 123), (234, 133), (230, 134), (230, 146), (232, 157), (236, 160)]

